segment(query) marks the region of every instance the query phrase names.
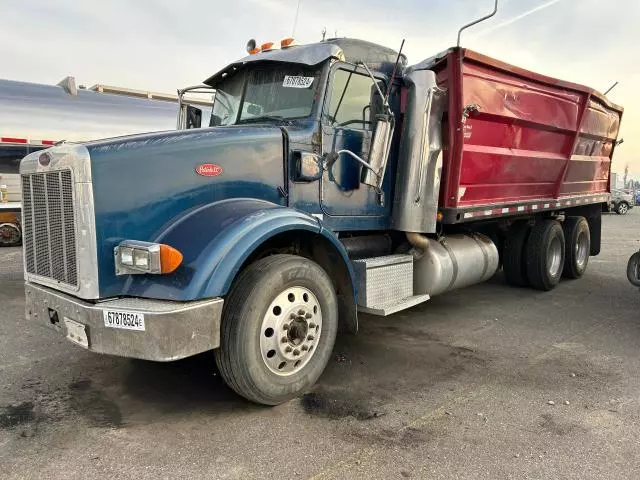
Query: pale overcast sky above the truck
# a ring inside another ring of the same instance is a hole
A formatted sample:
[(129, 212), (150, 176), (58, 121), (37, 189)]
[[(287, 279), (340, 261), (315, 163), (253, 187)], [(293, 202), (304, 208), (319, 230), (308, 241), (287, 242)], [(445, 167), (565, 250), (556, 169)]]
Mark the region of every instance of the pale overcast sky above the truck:
[[(246, 41), (291, 36), (297, 0), (0, 0), (0, 78), (173, 92), (245, 55)], [(455, 44), (492, 0), (301, 0), (299, 43), (348, 36), (397, 48), (409, 63)], [(501, 0), (463, 46), (600, 91), (625, 107), (614, 170), (640, 174), (640, 2)]]

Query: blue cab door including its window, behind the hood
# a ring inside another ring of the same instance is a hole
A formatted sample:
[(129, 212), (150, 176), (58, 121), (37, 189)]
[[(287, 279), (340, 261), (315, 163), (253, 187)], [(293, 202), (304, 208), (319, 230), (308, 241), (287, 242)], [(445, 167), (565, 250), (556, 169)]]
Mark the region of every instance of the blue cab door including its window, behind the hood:
[[(376, 80), (384, 92), (384, 80)], [(375, 118), (380, 113), (382, 98), (366, 71), (345, 63), (333, 65), (322, 112), (323, 153), (349, 150), (367, 161)], [(389, 199), (385, 201), (384, 195), (360, 182), (364, 168), (342, 153), (325, 170), (320, 202), (325, 222), (332, 228), (376, 229), (388, 225)]]

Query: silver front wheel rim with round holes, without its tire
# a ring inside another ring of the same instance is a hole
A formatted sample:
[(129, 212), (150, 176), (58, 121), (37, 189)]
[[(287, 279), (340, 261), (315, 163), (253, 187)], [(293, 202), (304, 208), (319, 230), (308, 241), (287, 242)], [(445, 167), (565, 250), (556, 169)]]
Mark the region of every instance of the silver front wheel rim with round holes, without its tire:
[(262, 361), (276, 375), (293, 375), (316, 353), (321, 334), (318, 298), (308, 288), (289, 287), (273, 299), (262, 319)]

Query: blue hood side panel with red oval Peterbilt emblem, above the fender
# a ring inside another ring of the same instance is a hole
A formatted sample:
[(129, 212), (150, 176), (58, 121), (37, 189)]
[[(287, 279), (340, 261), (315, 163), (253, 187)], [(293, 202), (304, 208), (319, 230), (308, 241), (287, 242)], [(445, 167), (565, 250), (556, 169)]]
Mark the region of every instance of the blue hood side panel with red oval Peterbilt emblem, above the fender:
[(91, 158), (100, 296), (119, 295), (113, 248), (154, 241), (186, 212), (229, 198), (282, 204), (283, 134), (275, 126), (214, 127), (85, 145)]

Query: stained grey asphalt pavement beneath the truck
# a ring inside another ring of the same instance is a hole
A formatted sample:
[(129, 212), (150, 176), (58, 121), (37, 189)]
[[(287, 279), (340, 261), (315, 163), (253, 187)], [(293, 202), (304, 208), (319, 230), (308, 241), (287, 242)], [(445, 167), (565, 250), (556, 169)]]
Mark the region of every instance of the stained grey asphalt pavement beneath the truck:
[(267, 408), (211, 354), (89, 353), (23, 319), (0, 250), (0, 477), (637, 479), (640, 208), (603, 218), (586, 275), (552, 292), (502, 275), (361, 316), (313, 390)]

